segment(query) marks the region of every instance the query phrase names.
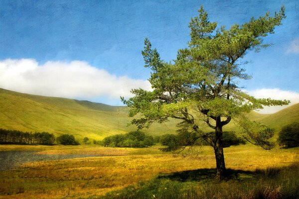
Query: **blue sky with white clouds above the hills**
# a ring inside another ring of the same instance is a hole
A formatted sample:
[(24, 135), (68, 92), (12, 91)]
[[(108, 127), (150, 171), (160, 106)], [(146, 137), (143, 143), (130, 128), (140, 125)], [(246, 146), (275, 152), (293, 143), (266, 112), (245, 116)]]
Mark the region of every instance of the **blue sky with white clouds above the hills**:
[(201, 4), (218, 28), (285, 5), (283, 25), (264, 40), (273, 45), (245, 57), (253, 78), (240, 86), (299, 101), (298, 0), (1, 0), (0, 88), (121, 105), (132, 87), (149, 88), (145, 37), (162, 59), (175, 59)]

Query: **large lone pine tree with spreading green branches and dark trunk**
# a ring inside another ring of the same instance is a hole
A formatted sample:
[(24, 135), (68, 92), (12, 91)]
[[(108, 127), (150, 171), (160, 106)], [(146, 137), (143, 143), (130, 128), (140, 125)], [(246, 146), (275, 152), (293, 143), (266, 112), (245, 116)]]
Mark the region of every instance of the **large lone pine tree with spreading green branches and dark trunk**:
[[(135, 97), (121, 100), (130, 107), (131, 121), (139, 129), (149, 127), (153, 122), (164, 122), (169, 118), (181, 120), (178, 133), (188, 132), (187, 145), (203, 139), (213, 148), (216, 158), (218, 179), (225, 173), (223, 154), (223, 126), (232, 118), (242, 127), (243, 137), (251, 143), (271, 149), (269, 139), (273, 131), (257, 122), (246, 119), (244, 113), (263, 108), (263, 105), (283, 105), (289, 101), (256, 99), (242, 91), (238, 80), (250, 79), (245, 73), (241, 59), (250, 50), (258, 51), (269, 46), (262, 44), (263, 38), (274, 33), (281, 25), (285, 8), (270, 16), (267, 12), (257, 19), (251, 18), (242, 25), (230, 29), (210, 22), (207, 12), (201, 6), (199, 16), (191, 18), (191, 41), (188, 47), (179, 49), (176, 60), (165, 62), (156, 49), (145, 39), (142, 55), (145, 67), (151, 69), (149, 82), (152, 91), (134, 89)], [(140, 114), (141, 113), (141, 114)], [(200, 122), (204, 120), (205, 122)], [(208, 125), (213, 132), (204, 132)]]

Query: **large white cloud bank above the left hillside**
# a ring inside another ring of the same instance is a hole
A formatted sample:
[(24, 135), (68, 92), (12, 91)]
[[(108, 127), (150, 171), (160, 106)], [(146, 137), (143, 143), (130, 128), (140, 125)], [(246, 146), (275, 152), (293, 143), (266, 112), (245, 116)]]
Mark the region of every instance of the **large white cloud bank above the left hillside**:
[(150, 83), (117, 77), (83, 61), (40, 65), (33, 59), (6, 59), (0, 61), (0, 88), (42, 96), (119, 99), (132, 97), (134, 88), (150, 90)]

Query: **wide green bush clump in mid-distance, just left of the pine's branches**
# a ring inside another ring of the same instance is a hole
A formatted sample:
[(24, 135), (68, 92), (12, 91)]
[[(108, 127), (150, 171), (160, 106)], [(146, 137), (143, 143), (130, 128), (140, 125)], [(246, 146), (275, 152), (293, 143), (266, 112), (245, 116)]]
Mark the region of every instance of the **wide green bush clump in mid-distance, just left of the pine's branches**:
[(132, 131), (105, 137), (101, 145), (105, 147), (149, 147), (153, 145), (153, 137), (141, 131)]

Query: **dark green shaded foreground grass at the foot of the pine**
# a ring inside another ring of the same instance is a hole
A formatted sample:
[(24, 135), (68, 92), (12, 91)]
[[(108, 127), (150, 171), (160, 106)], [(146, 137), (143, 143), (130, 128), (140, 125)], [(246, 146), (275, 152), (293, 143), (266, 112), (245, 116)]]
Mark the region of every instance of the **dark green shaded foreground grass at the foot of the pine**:
[(227, 169), (220, 182), (215, 176), (216, 169), (163, 174), (101, 199), (299, 199), (298, 164), (255, 171)]

